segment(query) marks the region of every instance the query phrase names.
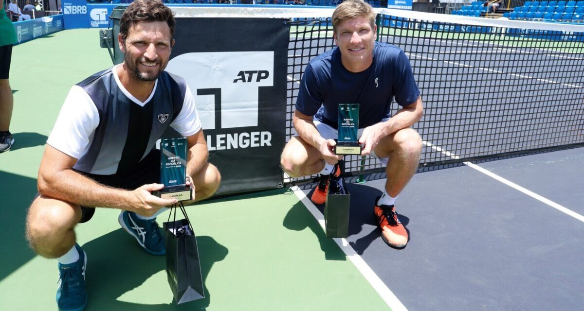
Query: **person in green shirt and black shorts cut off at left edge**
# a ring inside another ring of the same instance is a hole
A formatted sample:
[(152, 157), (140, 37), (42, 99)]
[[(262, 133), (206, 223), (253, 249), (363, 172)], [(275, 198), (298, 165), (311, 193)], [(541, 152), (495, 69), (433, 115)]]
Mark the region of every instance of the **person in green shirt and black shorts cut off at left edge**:
[[(2, 11), (4, 12), (4, 1)], [(10, 134), (10, 120), (12, 118), (13, 97), (8, 75), (12, 58), (12, 44), (16, 43), (16, 32), (12, 21), (6, 14), (0, 14), (0, 152), (5, 152), (14, 144)]]

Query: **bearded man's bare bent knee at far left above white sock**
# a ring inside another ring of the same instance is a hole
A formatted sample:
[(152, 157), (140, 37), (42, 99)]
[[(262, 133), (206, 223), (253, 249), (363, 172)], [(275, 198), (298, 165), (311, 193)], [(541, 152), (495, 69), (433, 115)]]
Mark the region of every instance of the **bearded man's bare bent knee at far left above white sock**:
[(67, 202), (37, 197), (26, 217), (26, 239), (43, 257), (55, 258), (71, 248), (65, 236), (81, 219), (81, 208)]

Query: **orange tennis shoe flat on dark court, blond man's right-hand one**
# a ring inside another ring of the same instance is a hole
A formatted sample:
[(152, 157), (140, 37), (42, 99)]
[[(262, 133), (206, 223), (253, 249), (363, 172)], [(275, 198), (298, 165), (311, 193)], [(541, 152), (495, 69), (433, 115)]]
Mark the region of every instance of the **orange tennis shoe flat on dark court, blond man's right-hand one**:
[(381, 238), (389, 246), (397, 249), (402, 249), (408, 244), (408, 232), (404, 225), (399, 221), (398, 213), (395, 212), (394, 205), (377, 206), (377, 201), (380, 197), (375, 199), (374, 212), (381, 228)]

